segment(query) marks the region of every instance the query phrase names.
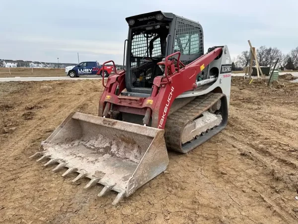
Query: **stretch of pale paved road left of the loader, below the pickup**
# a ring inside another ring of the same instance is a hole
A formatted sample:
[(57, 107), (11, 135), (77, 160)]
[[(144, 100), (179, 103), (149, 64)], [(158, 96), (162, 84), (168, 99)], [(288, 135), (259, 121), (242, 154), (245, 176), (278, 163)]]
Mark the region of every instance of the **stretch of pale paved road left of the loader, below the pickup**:
[(10, 82), (10, 81), (49, 81), (49, 80), (80, 80), (80, 79), (99, 79), (101, 77), (80, 77), (80, 78), (71, 78), (66, 77), (14, 77), (14, 78), (0, 78), (0, 82)]

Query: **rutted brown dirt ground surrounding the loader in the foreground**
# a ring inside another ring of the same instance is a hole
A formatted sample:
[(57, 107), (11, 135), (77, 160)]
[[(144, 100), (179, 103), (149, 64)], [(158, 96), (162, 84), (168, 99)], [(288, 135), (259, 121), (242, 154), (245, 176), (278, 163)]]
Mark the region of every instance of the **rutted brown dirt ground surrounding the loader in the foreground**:
[(0, 223), (298, 223), (298, 84), (233, 78), (227, 127), (125, 198), (98, 198), (28, 157), (70, 112), (97, 114), (99, 81), (0, 83)]

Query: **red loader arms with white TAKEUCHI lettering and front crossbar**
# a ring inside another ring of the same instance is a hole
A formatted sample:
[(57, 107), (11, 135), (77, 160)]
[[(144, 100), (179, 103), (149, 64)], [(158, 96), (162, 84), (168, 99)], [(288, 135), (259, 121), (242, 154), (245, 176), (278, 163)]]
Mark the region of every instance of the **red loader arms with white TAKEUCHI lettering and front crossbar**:
[[(125, 73), (109, 77), (99, 101), (98, 115), (109, 117), (113, 105), (113, 111), (144, 115), (146, 125), (151, 117), (152, 127), (164, 129), (173, 100), (182, 93), (196, 89), (197, 74), (219, 57), (222, 51), (222, 47), (217, 47), (181, 69), (175, 68), (172, 61), (169, 61), (170, 57), (180, 55), (180, 52), (167, 56), (165, 75), (154, 78), (151, 96), (148, 98), (120, 96), (125, 88), (123, 85)], [(179, 57), (177, 63), (180, 64)]]

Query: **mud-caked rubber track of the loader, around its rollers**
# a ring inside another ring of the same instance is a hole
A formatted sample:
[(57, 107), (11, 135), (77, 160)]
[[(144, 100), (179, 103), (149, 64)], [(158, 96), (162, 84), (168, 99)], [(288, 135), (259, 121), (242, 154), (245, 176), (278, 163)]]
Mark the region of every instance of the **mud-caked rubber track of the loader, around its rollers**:
[[(187, 147), (187, 149), (185, 149), (181, 145), (182, 131), (189, 122), (211, 108), (223, 96), (224, 94), (219, 93), (209, 93), (204, 96), (199, 96), (183, 108), (169, 115), (165, 124), (164, 134), (167, 147), (178, 152), (186, 153), (200, 145), (202, 141), (198, 141), (199, 144), (192, 144), (191, 147)], [(213, 135), (219, 132), (215, 129), (212, 130), (214, 132)], [(208, 139), (209, 138), (206, 140)]]

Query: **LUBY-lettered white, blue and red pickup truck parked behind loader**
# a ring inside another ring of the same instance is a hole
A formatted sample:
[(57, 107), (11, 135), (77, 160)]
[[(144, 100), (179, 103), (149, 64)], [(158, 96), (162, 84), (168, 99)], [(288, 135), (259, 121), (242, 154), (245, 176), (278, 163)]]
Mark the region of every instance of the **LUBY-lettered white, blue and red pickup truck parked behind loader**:
[(79, 77), (81, 75), (100, 75), (104, 74), (104, 77), (109, 77), (110, 74), (114, 74), (114, 67), (105, 65), (104, 69), (97, 61), (81, 62), (76, 66), (68, 66), (65, 68), (65, 74), (71, 78)]

